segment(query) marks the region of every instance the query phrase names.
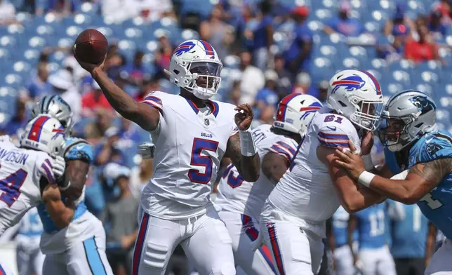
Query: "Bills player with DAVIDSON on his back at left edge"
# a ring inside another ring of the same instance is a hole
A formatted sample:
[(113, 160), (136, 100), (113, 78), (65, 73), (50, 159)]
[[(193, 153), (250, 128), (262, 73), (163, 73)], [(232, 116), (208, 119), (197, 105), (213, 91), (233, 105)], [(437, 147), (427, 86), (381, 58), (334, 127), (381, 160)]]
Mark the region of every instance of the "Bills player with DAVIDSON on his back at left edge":
[(19, 148), (9, 140), (0, 142), (0, 235), (41, 200), (55, 222), (65, 222), (57, 214), (65, 206), (55, 184), (55, 171), (61, 175), (65, 167), (54, 159), (64, 140), (58, 120), (38, 116), (27, 124)]

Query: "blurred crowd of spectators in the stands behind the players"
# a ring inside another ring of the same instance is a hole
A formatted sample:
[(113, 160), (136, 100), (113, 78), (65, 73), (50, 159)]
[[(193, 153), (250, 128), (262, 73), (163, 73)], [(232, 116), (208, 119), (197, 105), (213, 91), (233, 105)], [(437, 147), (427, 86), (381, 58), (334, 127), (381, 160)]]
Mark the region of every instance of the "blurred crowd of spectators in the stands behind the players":
[[(210, 1), (212, 7), (208, 13), (190, 8), (203, 1), (0, 0), (0, 25), (20, 24), (16, 13), (36, 17), (72, 16), (84, 11), (87, 3), (93, 16), (109, 18), (117, 24), (136, 18), (149, 22), (170, 18), (215, 48), (225, 64), (222, 85), (215, 99), (252, 105), (254, 126), (272, 123), (277, 103), (290, 93), (314, 95), (325, 102), (327, 79), (331, 75), (322, 74), (319, 67), (313, 66), (312, 57), (318, 49), (314, 47), (316, 26), (308, 26), (307, 21), (314, 12), (311, 6), (296, 6), (295, 1), (282, 0), (219, 0)], [(312, 0), (311, 4), (316, 1)], [(450, 51), (452, 44), (452, 41), (445, 43), (446, 35), (451, 34), (452, 1), (436, 1), (415, 15), (407, 12), (407, 1), (386, 1), (392, 16), (377, 36), (375, 32), (369, 33), (371, 25), (365, 26), (357, 19), (354, 7), (360, 1), (331, 2), (334, 3), (331, 14), (326, 15), (328, 20), (317, 28), (325, 35), (340, 35), (347, 41), (347, 47), (370, 45), (375, 58), (388, 64), (399, 60), (411, 60), (415, 64), (436, 60), (444, 68), (452, 65), (446, 55), (441, 55), (441, 48)], [(117, 40), (109, 39), (107, 74), (138, 101), (153, 90), (178, 93), (164, 69), (168, 68), (171, 54), (180, 41), (172, 39), (168, 32), (154, 35), (157, 44), (152, 53), (145, 51), (145, 45), (138, 45), (133, 53), (123, 51)], [(0, 133), (20, 135), (30, 107), (44, 95), (61, 95), (69, 103), (76, 123), (72, 135), (88, 140), (95, 152), (86, 183), (86, 203), (105, 222), (107, 251), (115, 274), (128, 274), (138, 227), (138, 198), (152, 177), (152, 159), (142, 160), (137, 145), (150, 142), (150, 136), (114, 112), (98, 84), (79, 67), (71, 51), (70, 46), (43, 48), (20, 88), (15, 112), (0, 123)], [(55, 53), (65, 56), (58, 69), (51, 66)], [(334, 54), (331, 53), (332, 59)], [(381, 158), (381, 148), (375, 150)], [(175, 254), (183, 255), (183, 252), (178, 249)], [(178, 274), (176, 267), (184, 264), (175, 264), (173, 271)]]

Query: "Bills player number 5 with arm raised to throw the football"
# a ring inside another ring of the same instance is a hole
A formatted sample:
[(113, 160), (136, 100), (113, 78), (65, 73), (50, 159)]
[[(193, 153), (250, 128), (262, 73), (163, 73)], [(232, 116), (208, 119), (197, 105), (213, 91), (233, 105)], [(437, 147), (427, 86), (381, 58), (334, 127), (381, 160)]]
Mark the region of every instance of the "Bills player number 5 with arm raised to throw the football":
[[(164, 274), (180, 243), (200, 274), (235, 274), (232, 241), (209, 197), (223, 156), (254, 182), (260, 159), (249, 105), (208, 100), (217, 93), (222, 63), (206, 41), (187, 40), (166, 73), (180, 95), (150, 93), (135, 102), (102, 71), (79, 60), (121, 116), (152, 134), (154, 175), (142, 192), (133, 275)], [(238, 111), (238, 112), (236, 112)]]

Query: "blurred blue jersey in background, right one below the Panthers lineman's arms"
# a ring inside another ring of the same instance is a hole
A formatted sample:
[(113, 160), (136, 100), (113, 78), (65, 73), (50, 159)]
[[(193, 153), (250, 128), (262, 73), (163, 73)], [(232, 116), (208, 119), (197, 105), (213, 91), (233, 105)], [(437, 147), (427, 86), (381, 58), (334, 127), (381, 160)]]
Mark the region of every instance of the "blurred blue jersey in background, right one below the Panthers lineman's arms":
[(397, 216), (391, 218), (391, 253), (396, 258), (425, 257), (429, 221), (416, 204), (387, 200)]

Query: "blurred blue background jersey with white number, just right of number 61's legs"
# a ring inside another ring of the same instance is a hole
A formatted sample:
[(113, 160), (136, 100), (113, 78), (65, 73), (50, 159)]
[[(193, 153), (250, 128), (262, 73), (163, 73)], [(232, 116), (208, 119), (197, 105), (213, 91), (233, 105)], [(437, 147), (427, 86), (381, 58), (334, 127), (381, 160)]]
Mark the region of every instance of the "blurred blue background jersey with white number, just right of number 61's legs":
[(359, 250), (381, 248), (387, 243), (385, 203), (375, 204), (354, 214), (357, 218)]

